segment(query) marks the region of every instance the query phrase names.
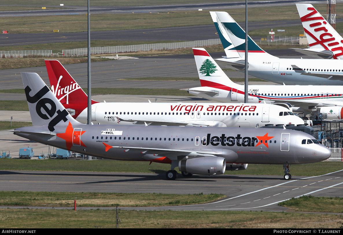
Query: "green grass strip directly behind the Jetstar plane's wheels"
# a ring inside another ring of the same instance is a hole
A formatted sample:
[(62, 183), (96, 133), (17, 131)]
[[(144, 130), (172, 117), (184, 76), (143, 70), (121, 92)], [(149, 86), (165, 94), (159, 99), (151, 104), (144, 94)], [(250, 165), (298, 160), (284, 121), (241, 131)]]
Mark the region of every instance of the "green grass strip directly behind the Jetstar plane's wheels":
[[(342, 162), (318, 162), (311, 164), (291, 165), (292, 175), (314, 176), (327, 174), (343, 169)], [(149, 161), (59, 161), (52, 159), (0, 159), (0, 170), (28, 171), (91, 171), (91, 172), (142, 172), (166, 173), (169, 164), (151, 163)], [(227, 175), (276, 175), (282, 177), (282, 165), (249, 164), (244, 171), (226, 171)]]

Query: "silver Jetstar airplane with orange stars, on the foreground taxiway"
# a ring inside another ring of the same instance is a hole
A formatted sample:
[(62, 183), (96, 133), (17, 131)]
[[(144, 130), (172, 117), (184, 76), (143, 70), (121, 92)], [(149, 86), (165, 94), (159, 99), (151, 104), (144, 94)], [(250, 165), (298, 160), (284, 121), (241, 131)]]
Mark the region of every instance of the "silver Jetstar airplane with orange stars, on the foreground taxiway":
[(15, 135), (96, 157), (168, 163), (169, 180), (176, 167), (184, 176), (220, 175), (227, 165), (248, 163), (284, 164), (289, 179), (289, 164), (331, 156), (311, 135), (287, 129), (82, 124), (38, 74), (22, 73), (22, 79), (33, 126), (16, 128)]

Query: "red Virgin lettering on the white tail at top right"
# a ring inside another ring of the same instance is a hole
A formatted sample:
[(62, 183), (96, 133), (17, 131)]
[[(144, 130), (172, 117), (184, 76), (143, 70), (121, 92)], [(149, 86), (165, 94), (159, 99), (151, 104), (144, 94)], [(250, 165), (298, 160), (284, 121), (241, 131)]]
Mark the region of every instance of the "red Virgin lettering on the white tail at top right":
[[(340, 43), (343, 44), (343, 40), (338, 41), (336, 40), (331, 33), (329, 33), (326, 26), (328, 25), (327, 21), (318, 13), (315, 8), (309, 7), (307, 8), (310, 13), (307, 15), (302, 16), (301, 22), (307, 21), (315, 21), (315, 23), (309, 24), (309, 29), (304, 27), (304, 30), (308, 36), (310, 36), (315, 42), (310, 43), (309, 46), (321, 45), (325, 50), (331, 50), (334, 59), (343, 55), (343, 47), (339, 46)], [(315, 14), (319, 14), (319, 16), (312, 17)], [(312, 33), (311, 33), (311, 32)], [(317, 38), (314, 34), (320, 33), (319, 38)]]

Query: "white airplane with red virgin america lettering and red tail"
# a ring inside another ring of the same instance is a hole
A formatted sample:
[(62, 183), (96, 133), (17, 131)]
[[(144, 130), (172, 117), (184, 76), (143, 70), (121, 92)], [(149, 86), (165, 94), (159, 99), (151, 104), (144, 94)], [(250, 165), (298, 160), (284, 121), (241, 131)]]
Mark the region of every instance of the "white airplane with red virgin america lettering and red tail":
[[(87, 95), (58, 60), (46, 60), (52, 92), (73, 118), (87, 122)], [(280, 115), (282, 114), (282, 115)], [(100, 124), (256, 127), (301, 125), (289, 109), (266, 103), (132, 103), (92, 100), (92, 121)]]

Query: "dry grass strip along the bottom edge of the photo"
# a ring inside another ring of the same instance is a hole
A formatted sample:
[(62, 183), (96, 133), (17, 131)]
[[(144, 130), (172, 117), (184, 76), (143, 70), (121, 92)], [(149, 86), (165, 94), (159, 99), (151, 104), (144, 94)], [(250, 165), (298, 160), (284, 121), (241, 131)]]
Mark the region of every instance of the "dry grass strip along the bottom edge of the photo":
[[(115, 228), (115, 210), (0, 209), (2, 228)], [(119, 211), (119, 228), (342, 228), (335, 214), (256, 211)]]

